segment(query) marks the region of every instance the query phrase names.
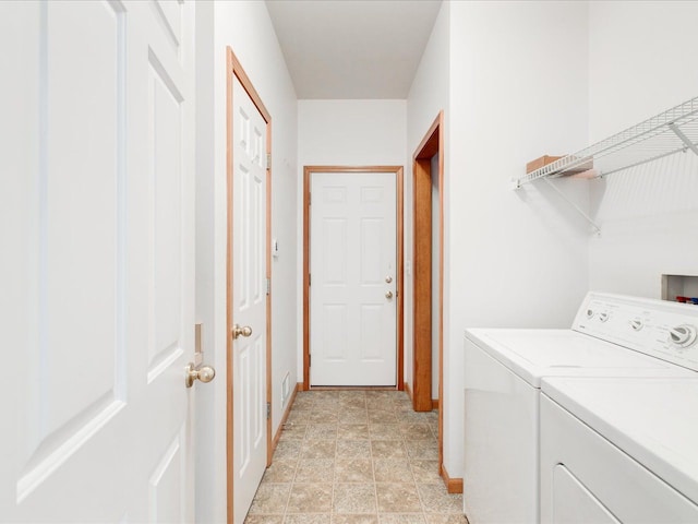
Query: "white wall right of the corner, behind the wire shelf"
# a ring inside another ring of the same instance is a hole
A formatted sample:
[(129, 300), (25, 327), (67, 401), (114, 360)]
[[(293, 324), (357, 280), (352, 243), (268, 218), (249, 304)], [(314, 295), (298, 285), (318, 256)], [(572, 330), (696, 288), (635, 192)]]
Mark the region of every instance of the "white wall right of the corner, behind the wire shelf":
[[(698, 2), (590, 3), (590, 140), (698, 96), (696, 20)], [(659, 298), (662, 273), (698, 274), (697, 160), (688, 152), (592, 183), (592, 289)]]

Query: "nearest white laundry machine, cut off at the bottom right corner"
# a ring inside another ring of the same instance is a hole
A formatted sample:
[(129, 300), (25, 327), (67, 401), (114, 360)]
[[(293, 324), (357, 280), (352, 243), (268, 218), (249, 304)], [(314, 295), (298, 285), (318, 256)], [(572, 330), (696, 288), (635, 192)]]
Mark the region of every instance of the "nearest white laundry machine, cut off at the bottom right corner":
[(541, 522), (698, 522), (696, 378), (544, 379)]

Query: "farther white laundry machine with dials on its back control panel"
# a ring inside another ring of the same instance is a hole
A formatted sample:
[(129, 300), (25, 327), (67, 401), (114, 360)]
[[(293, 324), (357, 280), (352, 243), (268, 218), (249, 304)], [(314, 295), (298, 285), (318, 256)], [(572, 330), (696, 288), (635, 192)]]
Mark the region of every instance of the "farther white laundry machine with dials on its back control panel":
[[(698, 307), (689, 308), (590, 293), (570, 330), (466, 331), (464, 511), (471, 524), (540, 522), (541, 379), (695, 377), (687, 362), (648, 350), (658, 314), (681, 311), (693, 320), (676, 325), (698, 325)], [(662, 343), (685, 336), (695, 347), (694, 329), (682, 330), (662, 332)]]

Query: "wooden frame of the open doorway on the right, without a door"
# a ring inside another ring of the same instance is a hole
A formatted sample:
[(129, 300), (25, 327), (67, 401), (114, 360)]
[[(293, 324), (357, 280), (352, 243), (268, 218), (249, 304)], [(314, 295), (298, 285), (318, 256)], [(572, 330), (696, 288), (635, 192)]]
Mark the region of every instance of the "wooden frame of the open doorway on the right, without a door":
[(432, 166), (438, 155), (438, 464), (444, 463), (444, 111), (412, 156), (412, 405), (432, 409)]

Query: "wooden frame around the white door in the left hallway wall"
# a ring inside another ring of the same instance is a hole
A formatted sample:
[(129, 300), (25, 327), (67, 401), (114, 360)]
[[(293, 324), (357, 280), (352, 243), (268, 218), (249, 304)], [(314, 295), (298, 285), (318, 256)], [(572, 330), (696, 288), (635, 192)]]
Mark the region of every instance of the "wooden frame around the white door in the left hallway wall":
[[(266, 154), (267, 158), (272, 154), (272, 116), (264, 106), (262, 97), (252, 85), (252, 81), (242, 69), (240, 61), (232, 52), (230, 47), (226, 48), (226, 171), (227, 171), (227, 207), (228, 207), (228, 247), (227, 247), (227, 260), (226, 260), (226, 479), (227, 479), (227, 496), (228, 496), (228, 523), (232, 524), (234, 519), (233, 513), (233, 369), (232, 369), (232, 241), (233, 241), (233, 158), (232, 158), (232, 83), (233, 79), (238, 79), (244, 91), (250, 95), (254, 106), (257, 108), (262, 118), (266, 122)], [(272, 278), (272, 165), (267, 162), (266, 167), (266, 277), (267, 282)], [(272, 290), (266, 295), (266, 402), (267, 405), (272, 405)], [(270, 413), (266, 419), (266, 465), (272, 464), (272, 416)]]

